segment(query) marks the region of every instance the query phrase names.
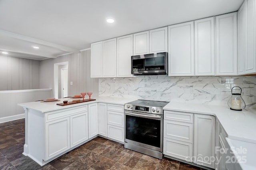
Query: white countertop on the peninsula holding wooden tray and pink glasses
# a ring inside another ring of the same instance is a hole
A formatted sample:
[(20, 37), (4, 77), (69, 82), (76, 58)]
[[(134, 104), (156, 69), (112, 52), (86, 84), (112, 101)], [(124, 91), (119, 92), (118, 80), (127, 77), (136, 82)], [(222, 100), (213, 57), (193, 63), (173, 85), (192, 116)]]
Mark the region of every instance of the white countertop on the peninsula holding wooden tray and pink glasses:
[[(82, 98), (78, 98), (82, 99)], [(46, 113), (50, 111), (56, 111), (60, 109), (66, 109), (66, 108), (71, 108), (71, 107), (76, 107), (80, 105), (87, 105), (90, 103), (95, 103), (95, 102), (102, 102), (102, 103), (111, 103), (111, 104), (116, 104), (116, 105), (124, 105), (125, 103), (128, 103), (130, 101), (134, 101), (136, 99), (121, 99), (121, 98), (114, 98), (114, 97), (100, 97), (99, 99), (96, 99), (96, 101), (89, 101), (89, 102), (84, 102), (84, 103), (77, 103), (73, 105), (67, 105), (67, 106), (59, 106), (56, 105), (57, 103), (63, 103), (63, 101), (72, 101), (72, 100), (77, 100), (73, 98), (62, 98), (59, 99), (60, 101), (56, 102), (41, 102), (41, 101), (36, 101), (36, 102), (28, 102), (28, 103), (19, 103), (18, 105), (21, 107), (25, 107), (28, 109), (33, 109), (41, 113)]]

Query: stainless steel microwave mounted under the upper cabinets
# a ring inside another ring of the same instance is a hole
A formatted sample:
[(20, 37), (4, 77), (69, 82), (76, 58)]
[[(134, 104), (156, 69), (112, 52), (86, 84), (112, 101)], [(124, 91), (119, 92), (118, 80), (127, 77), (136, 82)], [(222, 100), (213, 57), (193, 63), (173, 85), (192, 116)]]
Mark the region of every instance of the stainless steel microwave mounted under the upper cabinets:
[(168, 73), (168, 53), (132, 56), (133, 75), (157, 75)]

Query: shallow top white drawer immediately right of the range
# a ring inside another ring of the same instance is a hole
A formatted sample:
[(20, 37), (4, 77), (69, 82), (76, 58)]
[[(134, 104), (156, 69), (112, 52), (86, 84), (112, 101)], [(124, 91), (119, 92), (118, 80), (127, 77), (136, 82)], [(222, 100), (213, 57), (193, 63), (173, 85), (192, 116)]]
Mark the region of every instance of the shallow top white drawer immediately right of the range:
[(164, 119), (193, 123), (193, 113), (164, 111)]

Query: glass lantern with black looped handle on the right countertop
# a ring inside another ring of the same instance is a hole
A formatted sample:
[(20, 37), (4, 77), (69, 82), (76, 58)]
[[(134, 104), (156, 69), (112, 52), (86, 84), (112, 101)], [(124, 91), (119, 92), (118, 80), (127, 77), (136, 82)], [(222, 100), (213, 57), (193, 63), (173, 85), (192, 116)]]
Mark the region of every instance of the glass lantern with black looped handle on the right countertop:
[[(238, 86), (235, 86), (235, 87), (238, 87)], [(230, 107), (231, 110), (242, 111), (242, 109), (244, 109), (246, 106), (244, 99), (241, 97), (242, 89), (241, 87), (238, 87), (239, 89), (234, 89), (235, 87), (231, 89), (232, 96), (228, 101), (228, 106)], [(233, 89), (234, 91), (240, 90), (240, 93), (233, 93)]]

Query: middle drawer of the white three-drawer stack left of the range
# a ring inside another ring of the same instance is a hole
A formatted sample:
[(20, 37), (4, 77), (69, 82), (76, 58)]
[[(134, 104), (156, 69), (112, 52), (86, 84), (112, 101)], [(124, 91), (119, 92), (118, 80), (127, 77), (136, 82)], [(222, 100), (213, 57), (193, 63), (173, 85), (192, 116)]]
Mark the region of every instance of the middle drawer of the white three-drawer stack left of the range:
[(108, 125), (124, 127), (124, 113), (108, 111)]

